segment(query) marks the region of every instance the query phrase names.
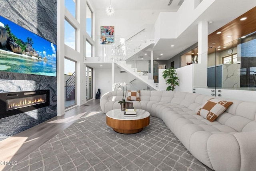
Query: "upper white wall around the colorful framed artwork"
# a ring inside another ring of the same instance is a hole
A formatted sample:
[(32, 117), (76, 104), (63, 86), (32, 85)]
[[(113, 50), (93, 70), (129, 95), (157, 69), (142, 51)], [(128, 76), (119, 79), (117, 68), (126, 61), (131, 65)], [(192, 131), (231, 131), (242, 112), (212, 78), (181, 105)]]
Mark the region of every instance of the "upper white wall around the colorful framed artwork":
[[(111, 49), (120, 44), (120, 38), (128, 38), (140, 31), (142, 26), (154, 24), (160, 12), (167, 10), (115, 10), (114, 16), (106, 15), (105, 10), (95, 12), (95, 55), (107, 57)], [(114, 26), (115, 45), (100, 44), (100, 26)]]

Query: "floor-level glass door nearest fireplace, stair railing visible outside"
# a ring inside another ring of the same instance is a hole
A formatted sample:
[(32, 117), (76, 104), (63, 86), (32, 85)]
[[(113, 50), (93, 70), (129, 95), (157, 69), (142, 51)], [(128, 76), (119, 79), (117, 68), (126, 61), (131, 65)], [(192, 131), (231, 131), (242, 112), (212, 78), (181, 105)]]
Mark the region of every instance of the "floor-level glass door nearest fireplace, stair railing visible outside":
[(65, 108), (76, 105), (76, 62), (65, 58)]

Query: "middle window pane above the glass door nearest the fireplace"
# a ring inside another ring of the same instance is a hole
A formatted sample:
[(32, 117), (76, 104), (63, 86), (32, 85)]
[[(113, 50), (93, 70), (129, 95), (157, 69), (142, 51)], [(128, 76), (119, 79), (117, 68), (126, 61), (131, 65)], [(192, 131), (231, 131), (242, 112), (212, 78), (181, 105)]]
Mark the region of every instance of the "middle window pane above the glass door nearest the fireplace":
[(64, 27), (65, 44), (76, 50), (76, 29), (67, 20), (65, 20)]

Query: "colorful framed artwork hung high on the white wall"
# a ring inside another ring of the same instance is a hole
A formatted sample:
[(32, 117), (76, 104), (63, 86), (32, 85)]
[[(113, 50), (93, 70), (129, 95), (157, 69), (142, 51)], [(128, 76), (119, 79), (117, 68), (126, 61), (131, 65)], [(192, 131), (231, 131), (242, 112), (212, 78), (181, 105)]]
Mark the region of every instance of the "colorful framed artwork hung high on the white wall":
[(114, 26), (100, 26), (100, 44), (114, 43)]

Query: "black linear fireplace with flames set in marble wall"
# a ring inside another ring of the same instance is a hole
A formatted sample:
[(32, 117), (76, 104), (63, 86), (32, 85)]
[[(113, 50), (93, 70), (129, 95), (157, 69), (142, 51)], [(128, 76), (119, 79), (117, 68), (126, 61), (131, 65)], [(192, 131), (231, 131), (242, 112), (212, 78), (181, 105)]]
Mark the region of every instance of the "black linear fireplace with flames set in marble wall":
[(50, 105), (50, 90), (0, 93), (0, 118)]

